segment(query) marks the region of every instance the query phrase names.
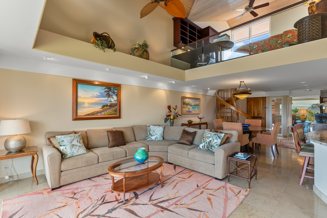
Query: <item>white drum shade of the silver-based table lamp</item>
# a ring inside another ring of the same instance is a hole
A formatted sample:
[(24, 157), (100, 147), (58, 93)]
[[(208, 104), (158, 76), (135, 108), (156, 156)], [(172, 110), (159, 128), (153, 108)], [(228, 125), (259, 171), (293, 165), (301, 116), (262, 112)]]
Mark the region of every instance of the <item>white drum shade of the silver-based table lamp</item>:
[(30, 133), (28, 119), (11, 119), (0, 121), (0, 136)]

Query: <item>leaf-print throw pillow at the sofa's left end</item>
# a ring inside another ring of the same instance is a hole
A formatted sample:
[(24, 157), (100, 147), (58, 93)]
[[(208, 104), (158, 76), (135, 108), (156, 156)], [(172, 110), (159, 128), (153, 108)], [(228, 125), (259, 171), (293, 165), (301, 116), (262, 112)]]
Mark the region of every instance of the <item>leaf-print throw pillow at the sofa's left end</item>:
[(63, 159), (88, 153), (84, 146), (81, 133), (56, 136), (56, 138), (58, 140)]

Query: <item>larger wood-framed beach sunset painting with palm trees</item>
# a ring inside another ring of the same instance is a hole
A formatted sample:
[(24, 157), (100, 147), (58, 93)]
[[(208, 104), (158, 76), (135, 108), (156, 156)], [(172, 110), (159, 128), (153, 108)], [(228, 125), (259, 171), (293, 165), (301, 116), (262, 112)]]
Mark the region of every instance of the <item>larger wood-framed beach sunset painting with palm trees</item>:
[(73, 79), (73, 120), (120, 119), (120, 86)]

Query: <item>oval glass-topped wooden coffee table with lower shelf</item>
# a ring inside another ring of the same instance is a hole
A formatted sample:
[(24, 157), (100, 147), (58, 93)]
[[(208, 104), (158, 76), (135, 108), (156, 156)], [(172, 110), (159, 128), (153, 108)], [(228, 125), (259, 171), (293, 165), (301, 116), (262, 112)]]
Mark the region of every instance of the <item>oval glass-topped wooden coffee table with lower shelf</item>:
[[(161, 173), (152, 172), (161, 168)], [(108, 167), (111, 176), (111, 192), (125, 193), (146, 189), (158, 181), (163, 187), (163, 158), (158, 156), (149, 156), (144, 163), (137, 162), (133, 157), (118, 161)], [(113, 177), (123, 177), (114, 182)]]

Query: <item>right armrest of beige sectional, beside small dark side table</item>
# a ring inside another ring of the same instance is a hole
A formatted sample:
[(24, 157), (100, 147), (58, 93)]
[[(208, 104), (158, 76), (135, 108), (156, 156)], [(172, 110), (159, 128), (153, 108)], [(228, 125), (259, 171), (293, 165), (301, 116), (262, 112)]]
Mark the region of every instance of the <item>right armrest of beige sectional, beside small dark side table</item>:
[[(227, 176), (227, 156), (240, 151), (241, 143), (229, 142), (215, 149), (215, 177), (223, 179)], [(233, 166), (230, 166), (234, 169)]]

